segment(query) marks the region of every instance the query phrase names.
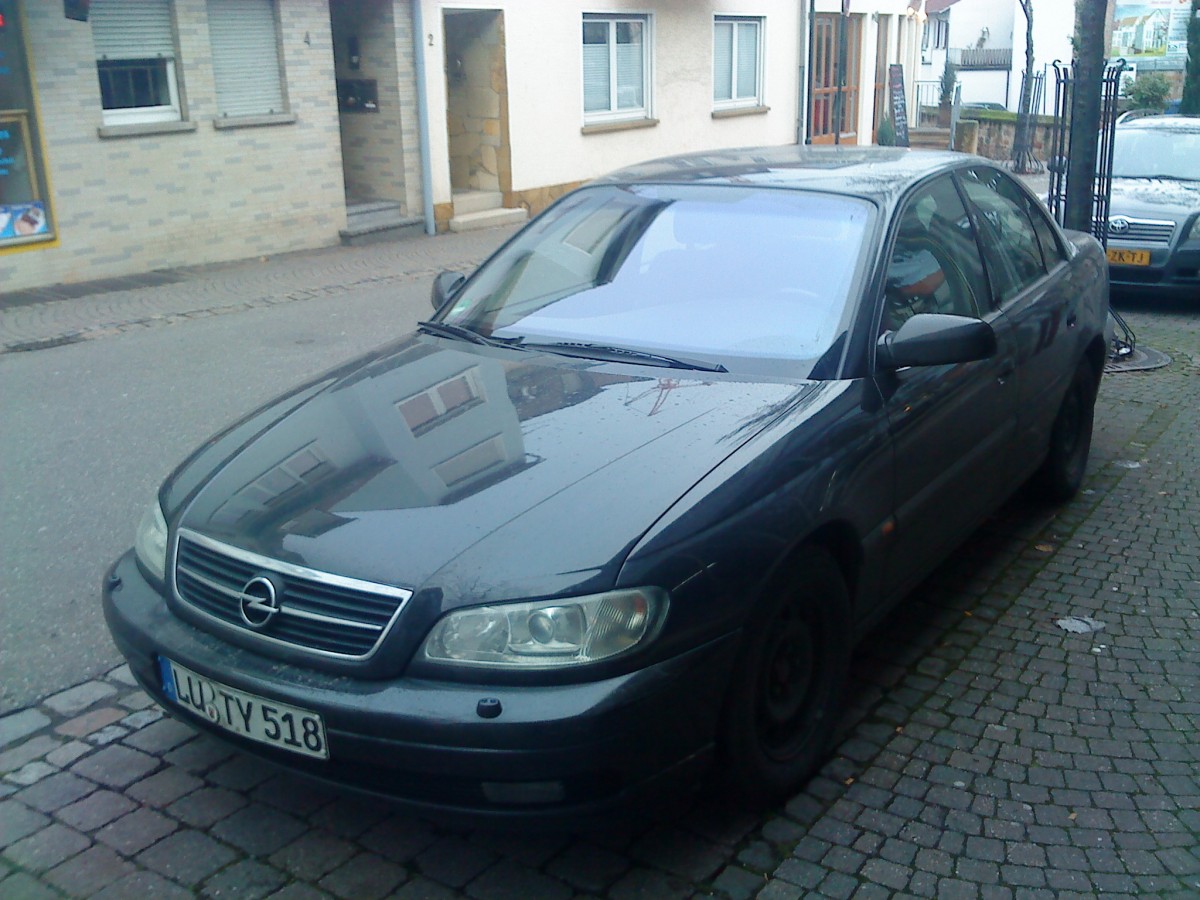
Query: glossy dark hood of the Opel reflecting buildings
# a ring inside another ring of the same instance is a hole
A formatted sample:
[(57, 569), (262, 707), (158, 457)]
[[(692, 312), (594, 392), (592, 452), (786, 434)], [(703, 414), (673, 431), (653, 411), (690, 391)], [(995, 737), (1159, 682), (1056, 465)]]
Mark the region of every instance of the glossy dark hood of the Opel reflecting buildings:
[(476, 602), (604, 589), (796, 391), (416, 336), (259, 410), (164, 496), (184, 528), (320, 571)]

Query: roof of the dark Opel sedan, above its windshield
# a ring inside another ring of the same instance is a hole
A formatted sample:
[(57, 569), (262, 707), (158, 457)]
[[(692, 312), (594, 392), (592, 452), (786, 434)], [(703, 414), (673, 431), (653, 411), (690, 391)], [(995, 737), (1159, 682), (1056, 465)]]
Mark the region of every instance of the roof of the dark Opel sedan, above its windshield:
[(988, 160), (948, 150), (892, 146), (764, 146), (709, 150), (629, 166), (598, 184), (792, 187), (866, 197), (888, 205), (938, 172)]

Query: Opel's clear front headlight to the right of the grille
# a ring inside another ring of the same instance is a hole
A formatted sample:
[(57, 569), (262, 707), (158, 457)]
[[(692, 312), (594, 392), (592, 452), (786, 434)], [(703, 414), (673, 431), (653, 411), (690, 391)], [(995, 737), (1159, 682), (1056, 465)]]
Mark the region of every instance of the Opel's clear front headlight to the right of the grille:
[(421, 647), (431, 662), (493, 668), (581, 666), (629, 653), (652, 638), (667, 611), (658, 588), (457, 610)]

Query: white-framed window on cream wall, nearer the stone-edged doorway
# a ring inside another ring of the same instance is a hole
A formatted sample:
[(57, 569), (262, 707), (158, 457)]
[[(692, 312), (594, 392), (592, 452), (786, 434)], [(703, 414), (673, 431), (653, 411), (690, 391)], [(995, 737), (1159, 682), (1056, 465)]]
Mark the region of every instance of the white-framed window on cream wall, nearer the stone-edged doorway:
[(649, 30), (647, 16), (583, 14), (586, 121), (649, 116)]

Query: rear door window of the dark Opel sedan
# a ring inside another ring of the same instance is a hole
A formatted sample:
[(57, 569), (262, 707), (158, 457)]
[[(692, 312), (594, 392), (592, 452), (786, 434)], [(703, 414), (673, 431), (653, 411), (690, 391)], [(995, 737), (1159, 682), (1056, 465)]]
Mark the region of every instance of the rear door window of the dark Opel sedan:
[(1046, 274), (1026, 198), (1004, 173), (984, 166), (962, 173), (962, 190), (974, 208), (988, 271), (1006, 304)]

